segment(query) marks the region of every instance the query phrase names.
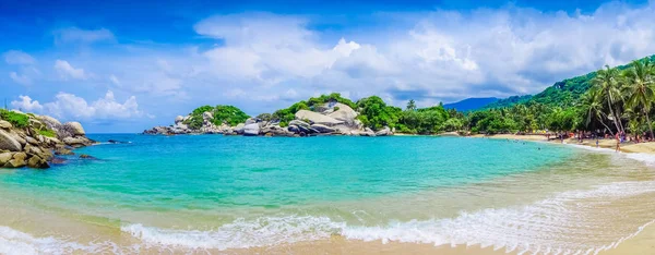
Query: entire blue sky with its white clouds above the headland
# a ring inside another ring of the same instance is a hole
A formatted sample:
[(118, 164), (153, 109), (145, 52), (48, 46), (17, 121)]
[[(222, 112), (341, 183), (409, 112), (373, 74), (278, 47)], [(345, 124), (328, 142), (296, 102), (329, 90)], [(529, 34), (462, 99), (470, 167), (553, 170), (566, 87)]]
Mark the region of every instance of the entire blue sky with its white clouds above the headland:
[(534, 94), (655, 53), (654, 1), (0, 2), (10, 108), (140, 132), (201, 105)]

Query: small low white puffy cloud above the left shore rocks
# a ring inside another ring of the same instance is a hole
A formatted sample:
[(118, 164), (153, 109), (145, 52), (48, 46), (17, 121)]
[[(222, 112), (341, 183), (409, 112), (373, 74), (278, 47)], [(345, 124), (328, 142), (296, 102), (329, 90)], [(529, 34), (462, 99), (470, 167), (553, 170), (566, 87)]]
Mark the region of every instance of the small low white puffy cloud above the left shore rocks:
[(104, 98), (88, 104), (84, 98), (68, 93), (59, 93), (55, 101), (44, 104), (45, 113), (71, 120), (112, 120), (146, 116), (139, 109), (136, 97), (129, 97), (123, 104), (116, 100), (108, 90)]

